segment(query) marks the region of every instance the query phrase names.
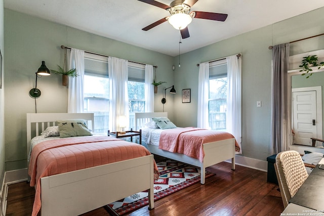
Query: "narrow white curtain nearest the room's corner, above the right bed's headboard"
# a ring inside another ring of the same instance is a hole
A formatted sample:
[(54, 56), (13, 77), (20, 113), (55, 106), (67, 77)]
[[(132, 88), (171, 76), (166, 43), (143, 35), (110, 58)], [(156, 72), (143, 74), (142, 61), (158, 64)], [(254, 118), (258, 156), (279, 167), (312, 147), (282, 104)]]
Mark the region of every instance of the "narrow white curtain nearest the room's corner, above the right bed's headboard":
[(154, 112), (154, 85), (152, 85), (153, 77), (153, 66), (145, 65), (145, 112)]

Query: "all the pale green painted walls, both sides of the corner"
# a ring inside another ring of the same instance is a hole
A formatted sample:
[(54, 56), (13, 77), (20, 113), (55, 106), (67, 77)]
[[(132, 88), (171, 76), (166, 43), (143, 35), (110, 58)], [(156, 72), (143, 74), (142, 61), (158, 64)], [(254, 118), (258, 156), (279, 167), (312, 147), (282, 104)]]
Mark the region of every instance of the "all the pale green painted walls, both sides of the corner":
[[(265, 161), (271, 154), (272, 52), (268, 47), (323, 33), (323, 13), (324, 8), (320, 8), (182, 54), (179, 68), (178, 56), (170, 57), (5, 9), (6, 170), (26, 167), (26, 113), (35, 112), (34, 100), (28, 92), (34, 87), (34, 73), (42, 61), (50, 69), (63, 64), (61, 45), (157, 65), (157, 80), (167, 81), (165, 87), (174, 84), (177, 90), (177, 94), (167, 95), (164, 110), (178, 126), (197, 125), (196, 64), (241, 53), (242, 156)], [(186, 46), (185, 39), (182, 46)], [(324, 49), (323, 36), (291, 44), (291, 55), (319, 49)], [(172, 65), (176, 66), (174, 71)], [(61, 77), (51, 75), (37, 82), (42, 91), (41, 98), (36, 100), (37, 112), (66, 112), (67, 89), (61, 85)], [(182, 103), (182, 89), (191, 89), (191, 103)], [(162, 93), (163, 87), (159, 87), (155, 111), (163, 110)], [(262, 107), (256, 106), (257, 101), (261, 101)]]

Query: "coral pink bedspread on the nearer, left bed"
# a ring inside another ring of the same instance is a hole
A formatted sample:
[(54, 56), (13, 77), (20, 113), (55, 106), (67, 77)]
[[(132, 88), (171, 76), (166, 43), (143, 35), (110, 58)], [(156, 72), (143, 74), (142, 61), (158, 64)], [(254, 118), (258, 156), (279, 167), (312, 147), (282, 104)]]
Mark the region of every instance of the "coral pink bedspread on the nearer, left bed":
[[(28, 168), (30, 186), (36, 189), (32, 215), (37, 215), (41, 209), (42, 177), (150, 154), (139, 144), (104, 136), (65, 138), (37, 144)], [(154, 171), (157, 170), (154, 162)]]

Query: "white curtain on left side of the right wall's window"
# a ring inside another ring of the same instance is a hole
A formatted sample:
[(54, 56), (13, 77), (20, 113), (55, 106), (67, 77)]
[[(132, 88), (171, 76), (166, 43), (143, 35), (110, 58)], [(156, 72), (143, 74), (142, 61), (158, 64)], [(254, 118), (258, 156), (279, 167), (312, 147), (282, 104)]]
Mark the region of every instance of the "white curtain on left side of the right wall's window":
[(199, 64), (197, 127), (210, 129), (208, 117), (209, 63)]

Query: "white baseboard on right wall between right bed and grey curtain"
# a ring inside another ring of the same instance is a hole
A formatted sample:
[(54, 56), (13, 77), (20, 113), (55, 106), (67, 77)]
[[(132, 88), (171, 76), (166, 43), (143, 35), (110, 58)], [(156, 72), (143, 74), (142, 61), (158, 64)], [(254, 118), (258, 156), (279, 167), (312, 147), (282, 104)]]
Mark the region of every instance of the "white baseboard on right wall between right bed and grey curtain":
[[(231, 163), (232, 160), (226, 160), (226, 162)], [(264, 160), (258, 160), (258, 159), (254, 159), (254, 158), (250, 158), (250, 157), (244, 157), (244, 156), (240, 156), (240, 155), (235, 155), (235, 164), (240, 165), (240, 166), (244, 166), (244, 167), (248, 167), (248, 168), (252, 168), (252, 169), (256, 169), (256, 170), (260, 170), (260, 171), (264, 171), (267, 172), (268, 170), (268, 162), (264, 161)]]

